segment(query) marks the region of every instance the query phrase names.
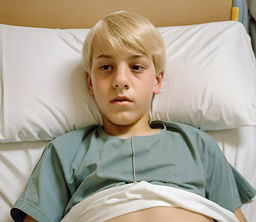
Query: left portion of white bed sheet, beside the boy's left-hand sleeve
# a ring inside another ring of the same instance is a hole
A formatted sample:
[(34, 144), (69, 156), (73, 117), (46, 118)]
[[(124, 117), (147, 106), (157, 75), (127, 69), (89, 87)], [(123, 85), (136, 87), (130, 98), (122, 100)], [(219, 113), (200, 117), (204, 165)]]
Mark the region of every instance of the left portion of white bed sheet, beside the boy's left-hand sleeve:
[(49, 141), (0, 143), (0, 221), (13, 221), (9, 211), (22, 193)]

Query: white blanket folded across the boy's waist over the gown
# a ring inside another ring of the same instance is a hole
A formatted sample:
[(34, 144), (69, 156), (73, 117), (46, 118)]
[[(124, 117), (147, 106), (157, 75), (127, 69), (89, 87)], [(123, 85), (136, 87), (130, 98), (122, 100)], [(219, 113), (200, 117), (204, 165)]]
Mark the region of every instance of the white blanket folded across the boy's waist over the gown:
[(61, 222), (106, 221), (150, 207), (182, 207), (219, 222), (238, 221), (231, 211), (195, 193), (142, 181), (103, 190), (86, 198), (72, 207)]

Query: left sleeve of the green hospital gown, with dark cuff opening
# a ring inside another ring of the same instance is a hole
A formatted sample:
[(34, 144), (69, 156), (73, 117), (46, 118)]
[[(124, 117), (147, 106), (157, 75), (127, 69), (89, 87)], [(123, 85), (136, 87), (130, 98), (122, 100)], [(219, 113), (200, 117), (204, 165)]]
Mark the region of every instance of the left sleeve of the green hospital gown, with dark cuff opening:
[(12, 207), (11, 216), (15, 221), (23, 221), (26, 214), (40, 222), (60, 221), (70, 197), (61, 161), (49, 143), (25, 190)]

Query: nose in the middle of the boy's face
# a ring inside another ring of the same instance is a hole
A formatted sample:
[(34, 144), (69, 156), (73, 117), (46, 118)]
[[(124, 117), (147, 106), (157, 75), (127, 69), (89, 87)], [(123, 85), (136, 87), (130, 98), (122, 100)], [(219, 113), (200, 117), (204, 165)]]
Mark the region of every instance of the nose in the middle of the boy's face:
[(129, 75), (130, 69), (128, 69), (126, 66), (120, 66), (116, 69), (116, 73), (114, 75), (113, 79), (113, 88), (129, 88)]

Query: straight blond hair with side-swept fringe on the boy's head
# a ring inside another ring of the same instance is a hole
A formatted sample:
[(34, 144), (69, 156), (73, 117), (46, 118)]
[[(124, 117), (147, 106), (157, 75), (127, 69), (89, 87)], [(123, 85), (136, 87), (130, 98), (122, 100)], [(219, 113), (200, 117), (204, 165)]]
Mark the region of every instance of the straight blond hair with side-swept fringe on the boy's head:
[(146, 55), (153, 59), (156, 76), (160, 76), (166, 63), (163, 38), (152, 23), (131, 12), (115, 12), (101, 19), (89, 31), (83, 42), (83, 66), (90, 74), (93, 45), (96, 39), (104, 39), (113, 49)]

